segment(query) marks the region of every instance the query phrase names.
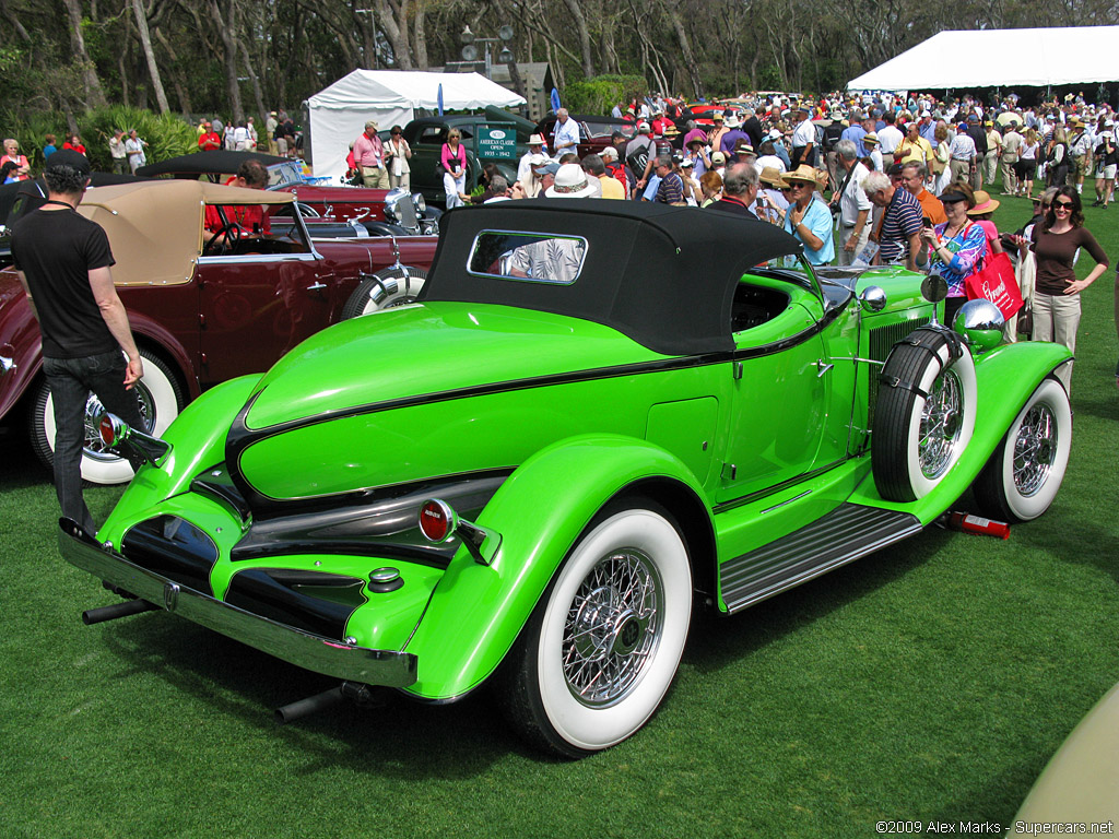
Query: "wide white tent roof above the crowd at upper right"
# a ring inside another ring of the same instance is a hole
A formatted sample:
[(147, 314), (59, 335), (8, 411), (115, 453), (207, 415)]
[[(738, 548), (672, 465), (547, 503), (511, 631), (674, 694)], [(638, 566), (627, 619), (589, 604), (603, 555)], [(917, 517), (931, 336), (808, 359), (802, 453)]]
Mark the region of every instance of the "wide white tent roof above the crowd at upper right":
[(853, 78), (847, 89), (935, 91), (1119, 82), (1117, 44), (1119, 26), (949, 30)]

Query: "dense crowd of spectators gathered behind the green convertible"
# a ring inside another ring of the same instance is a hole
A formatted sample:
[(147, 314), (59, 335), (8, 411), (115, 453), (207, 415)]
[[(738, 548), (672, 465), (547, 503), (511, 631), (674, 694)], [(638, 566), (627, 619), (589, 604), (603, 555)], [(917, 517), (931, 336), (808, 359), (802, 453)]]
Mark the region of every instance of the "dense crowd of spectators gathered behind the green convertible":
[[(1094, 179), (1093, 206), (1112, 199), (1119, 150), (1109, 105), (834, 94), (746, 96), (706, 109), (707, 124), (697, 113), (662, 98), (619, 105), (614, 116), (632, 130), (620, 126), (601, 152), (580, 157), (585, 139), (561, 110), (552, 136), (529, 139), (516, 181), (490, 172), (480, 199), (596, 197), (740, 214), (783, 227), (814, 265), (940, 274), (949, 320), (968, 300), (968, 277), (1009, 253), (1028, 317), (1010, 317), (1007, 340), (1021, 326), (1075, 350), (1080, 293), (1109, 264), (1083, 225), (1081, 199), (1085, 179)], [(448, 171), (448, 206), (470, 200)], [(991, 220), (996, 185), (1034, 201), (1016, 232), (1000, 234)], [(1081, 252), (1094, 265), (1076, 280)], [(1060, 375), (1070, 387), (1071, 365)]]

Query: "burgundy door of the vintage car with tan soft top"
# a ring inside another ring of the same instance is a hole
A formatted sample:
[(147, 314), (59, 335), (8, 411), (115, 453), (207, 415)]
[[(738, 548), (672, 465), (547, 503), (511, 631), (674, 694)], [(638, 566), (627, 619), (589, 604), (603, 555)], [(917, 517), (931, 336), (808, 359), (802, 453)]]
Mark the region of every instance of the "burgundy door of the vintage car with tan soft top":
[(301, 221), (290, 237), (242, 241), (233, 253), (199, 257), (198, 284), (203, 386), (269, 369), (329, 326), (337, 304), (333, 274)]

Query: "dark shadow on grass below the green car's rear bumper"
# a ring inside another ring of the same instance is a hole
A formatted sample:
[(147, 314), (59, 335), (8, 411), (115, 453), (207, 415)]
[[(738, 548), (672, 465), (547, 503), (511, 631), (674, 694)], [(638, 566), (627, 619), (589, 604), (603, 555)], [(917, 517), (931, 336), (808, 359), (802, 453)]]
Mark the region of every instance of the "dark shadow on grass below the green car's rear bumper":
[(384, 707), (345, 701), (281, 725), (275, 708), (337, 687), (339, 680), (167, 613), (106, 626), (103, 640), (123, 664), (113, 678), (149, 675), (215, 715), (283, 741), (303, 761), (294, 769), (300, 775), (341, 765), (398, 779), (468, 779), (510, 752), (527, 751), (485, 691), (445, 706), (385, 691)]

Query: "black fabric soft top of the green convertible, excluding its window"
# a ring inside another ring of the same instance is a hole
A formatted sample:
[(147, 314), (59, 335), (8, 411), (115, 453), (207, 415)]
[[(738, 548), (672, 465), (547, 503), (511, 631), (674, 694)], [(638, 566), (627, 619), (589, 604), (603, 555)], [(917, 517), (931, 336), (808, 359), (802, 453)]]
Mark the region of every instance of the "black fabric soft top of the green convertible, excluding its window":
[[(501, 303), (617, 329), (668, 356), (734, 348), (731, 305), (752, 266), (800, 243), (764, 221), (714, 209), (603, 199), (537, 198), (443, 215), (421, 301)], [(570, 285), (517, 282), (467, 271), (485, 230), (582, 236), (586, 257)]]

